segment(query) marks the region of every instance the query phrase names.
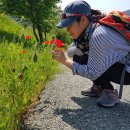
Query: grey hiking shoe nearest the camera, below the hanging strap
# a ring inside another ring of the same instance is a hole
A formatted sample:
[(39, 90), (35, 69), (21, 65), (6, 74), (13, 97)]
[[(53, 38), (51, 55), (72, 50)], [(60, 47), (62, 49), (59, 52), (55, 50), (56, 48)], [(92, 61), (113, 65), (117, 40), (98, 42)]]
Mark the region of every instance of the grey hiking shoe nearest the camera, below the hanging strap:
[(101, 107), (113, 107), (119, 102), (120, 99), (117, 90), (104, 89), (102, 95), (97, 101), (97, 105)]

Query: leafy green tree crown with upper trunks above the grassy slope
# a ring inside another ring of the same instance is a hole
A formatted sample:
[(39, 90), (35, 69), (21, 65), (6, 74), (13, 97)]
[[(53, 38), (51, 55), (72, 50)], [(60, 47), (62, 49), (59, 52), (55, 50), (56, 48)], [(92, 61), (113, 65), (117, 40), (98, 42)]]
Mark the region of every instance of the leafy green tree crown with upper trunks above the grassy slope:
[[(57, 6), (60, 0), (2, 0), (1, 9), (10, 15), (24, 16), (30, 20), (37, 41), (43, 41), (42, 31), (47, 33), (52, 28), (57, 15)], [(39, 37), (37, 36), (38, 30)]]

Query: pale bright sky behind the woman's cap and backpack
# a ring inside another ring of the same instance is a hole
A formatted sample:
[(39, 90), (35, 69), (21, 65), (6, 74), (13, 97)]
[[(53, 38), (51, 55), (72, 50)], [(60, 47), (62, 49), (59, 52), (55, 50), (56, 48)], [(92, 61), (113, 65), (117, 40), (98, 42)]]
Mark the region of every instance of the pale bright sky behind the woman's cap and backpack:
[[(73, 0), (61, 0), (62, 10), (65, 8), (67, 4), (72, 2)], [(112, 10), (126, 11), (130, 9), (130, 0), (85, 0), (89, 3), (92, 9), (98, 9), (103, 12), (110, 12)]]

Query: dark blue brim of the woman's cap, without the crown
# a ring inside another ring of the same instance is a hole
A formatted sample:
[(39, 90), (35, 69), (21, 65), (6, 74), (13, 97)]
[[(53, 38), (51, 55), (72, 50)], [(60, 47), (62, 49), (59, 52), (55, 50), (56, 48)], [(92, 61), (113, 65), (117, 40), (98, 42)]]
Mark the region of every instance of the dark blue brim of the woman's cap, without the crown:
[(68, 17), (66, 19), (62, 19), (56, 26), (58, 28), (65, 28), (71, 25), (75, 21), (76, 17)]

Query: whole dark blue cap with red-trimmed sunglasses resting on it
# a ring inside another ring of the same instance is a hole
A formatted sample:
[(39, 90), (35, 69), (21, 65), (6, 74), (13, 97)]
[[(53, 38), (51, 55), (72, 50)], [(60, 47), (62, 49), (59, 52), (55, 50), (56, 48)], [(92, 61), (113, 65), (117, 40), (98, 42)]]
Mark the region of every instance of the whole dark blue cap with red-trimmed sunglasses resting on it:
[(61, 15), (61, 21), (56, 25), (59, 28), (64, 28), (71, 25), (79, 16), (90, 16), (91, 7), (86, 1), (76, 0), (71, 2), (64, 9)]

